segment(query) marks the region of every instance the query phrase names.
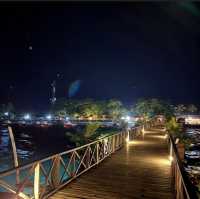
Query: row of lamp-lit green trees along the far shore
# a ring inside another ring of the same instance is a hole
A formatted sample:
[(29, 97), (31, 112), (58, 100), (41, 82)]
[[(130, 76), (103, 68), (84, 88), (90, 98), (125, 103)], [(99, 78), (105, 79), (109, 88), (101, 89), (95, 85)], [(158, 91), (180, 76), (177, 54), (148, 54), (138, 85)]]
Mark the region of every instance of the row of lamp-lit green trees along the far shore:
[[(174, 105), (156, 98), (139, 99), (129, 107), (125, 106), (118, 99), (100, 101), (61, 98), (51, 106), (48, 112), (55, 116), (70, 117), (72, 119), (118, 120), (126, 115), (152, 117), (156, 114), (164, 114), (170, 117), (170, 115), (198, 114), (198, 108), (194, 104)], [(20, 113), (14, 108), (12, 103), (8, 103), (0, 105), (0, 117), (6, 116), (5, 114), (9, 114), (10, 118), (14, 118), (15, 115)], [(35, 115), (37, 114), (35, 113)]]

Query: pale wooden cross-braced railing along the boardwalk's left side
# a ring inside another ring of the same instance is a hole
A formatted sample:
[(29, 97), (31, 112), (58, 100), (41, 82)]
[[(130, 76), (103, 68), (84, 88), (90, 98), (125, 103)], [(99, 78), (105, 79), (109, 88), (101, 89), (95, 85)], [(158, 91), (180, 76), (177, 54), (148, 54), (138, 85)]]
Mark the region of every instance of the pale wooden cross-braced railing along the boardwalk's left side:
[(22, 199), (47, 198), (120, 149), (128, 134), (132, 138), (141, 130), (141, 126), (136, 127), (129, 133), (111, 135), (31, 164), (1, 172), (0, 196), (3, 193)]

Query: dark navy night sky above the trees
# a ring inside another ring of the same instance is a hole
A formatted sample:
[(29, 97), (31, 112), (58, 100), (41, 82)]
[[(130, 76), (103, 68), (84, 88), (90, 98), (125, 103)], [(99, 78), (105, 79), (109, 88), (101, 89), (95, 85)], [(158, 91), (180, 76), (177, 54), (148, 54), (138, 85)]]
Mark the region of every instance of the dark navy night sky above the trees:
[(198, 104), (199, 23), (190, 2), (1, 3), (0, 103), (47, 108), (59, 73), (57, 98)]

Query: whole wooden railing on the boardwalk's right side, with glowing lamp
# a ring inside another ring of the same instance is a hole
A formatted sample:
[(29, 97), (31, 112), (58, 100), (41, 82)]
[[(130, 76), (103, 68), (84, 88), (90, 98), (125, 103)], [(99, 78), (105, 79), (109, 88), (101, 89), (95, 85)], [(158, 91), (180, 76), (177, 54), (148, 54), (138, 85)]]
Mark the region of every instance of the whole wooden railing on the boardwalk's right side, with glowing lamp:
[(188, 179), (183, 164), (179, 158), (176, 144), (169, 134), (170, 160), (172, 163), (172, 177), (176, 199), (197, 199), (197, 193)]

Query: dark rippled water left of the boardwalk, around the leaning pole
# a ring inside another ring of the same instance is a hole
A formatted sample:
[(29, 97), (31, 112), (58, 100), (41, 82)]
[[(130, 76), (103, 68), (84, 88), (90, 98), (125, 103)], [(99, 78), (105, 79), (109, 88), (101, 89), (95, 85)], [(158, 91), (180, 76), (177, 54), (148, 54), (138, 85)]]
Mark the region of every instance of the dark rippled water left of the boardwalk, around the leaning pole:
[[(66, 151), (73, 146), (65, 133), (73, 131), (62, 126), (32, 127), (13, 126), (19, 164)], [(13, 168), (12, 146), (6, 126), (0, 126), (0, 172)]]

